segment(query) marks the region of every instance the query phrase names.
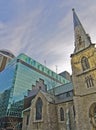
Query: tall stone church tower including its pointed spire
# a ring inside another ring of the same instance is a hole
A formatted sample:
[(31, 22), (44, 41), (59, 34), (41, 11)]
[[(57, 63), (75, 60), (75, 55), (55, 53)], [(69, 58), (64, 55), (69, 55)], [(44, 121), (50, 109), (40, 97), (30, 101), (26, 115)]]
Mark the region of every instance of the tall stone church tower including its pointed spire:
[(71, 55), (76, 130), (96, 130), (96, 48), (73, 9), (75, 49)]

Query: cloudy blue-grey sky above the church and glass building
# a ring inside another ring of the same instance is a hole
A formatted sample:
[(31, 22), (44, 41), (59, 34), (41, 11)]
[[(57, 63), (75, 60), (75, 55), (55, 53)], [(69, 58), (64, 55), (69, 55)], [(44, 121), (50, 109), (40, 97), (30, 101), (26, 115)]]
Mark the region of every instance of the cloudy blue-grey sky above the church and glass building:
[(25, 53), (51, 70), (71, 71), (72, 8), (96, 42), (96, 0), (0, 0), (0, 49)]

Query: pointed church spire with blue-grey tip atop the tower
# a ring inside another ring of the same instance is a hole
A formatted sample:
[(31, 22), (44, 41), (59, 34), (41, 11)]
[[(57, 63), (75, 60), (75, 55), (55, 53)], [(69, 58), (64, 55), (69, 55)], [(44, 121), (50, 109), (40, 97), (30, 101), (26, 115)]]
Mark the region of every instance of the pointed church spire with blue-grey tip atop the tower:
[(74, 35), (75, 35), (75, 51), (79, 52), (91, 44), (91, 40), (88, 34), (86, 34), (78, 16), (73, 11), (73, 23), (74, 23)]

